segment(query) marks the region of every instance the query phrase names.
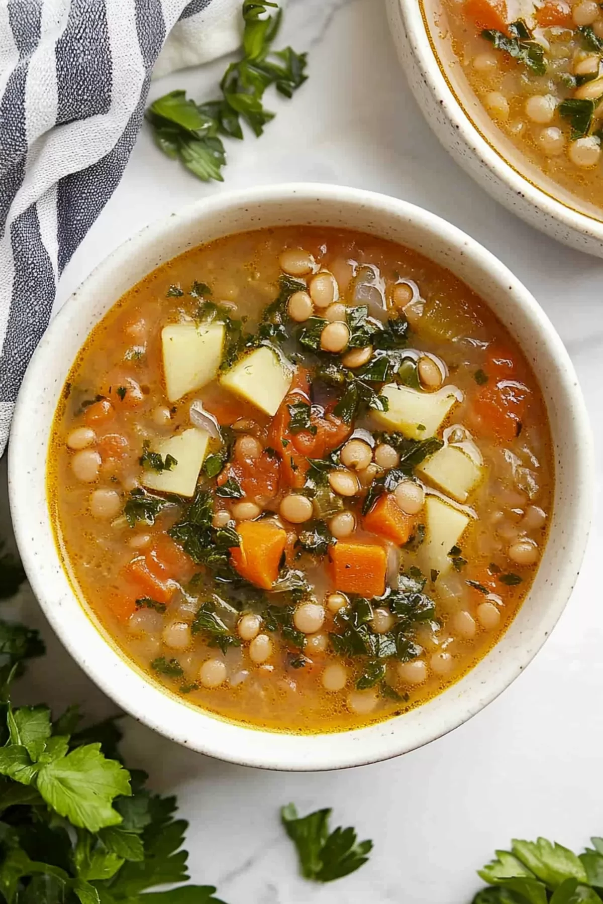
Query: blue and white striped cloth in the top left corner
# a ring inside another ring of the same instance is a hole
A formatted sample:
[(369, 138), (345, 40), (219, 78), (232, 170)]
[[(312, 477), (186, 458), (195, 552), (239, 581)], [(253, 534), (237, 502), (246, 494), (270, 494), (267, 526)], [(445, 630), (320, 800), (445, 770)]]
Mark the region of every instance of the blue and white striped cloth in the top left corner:
[(118, 185), (151, 73), (240, 42), (240, 0), (0, 0), (0, 454), (57, 280)]

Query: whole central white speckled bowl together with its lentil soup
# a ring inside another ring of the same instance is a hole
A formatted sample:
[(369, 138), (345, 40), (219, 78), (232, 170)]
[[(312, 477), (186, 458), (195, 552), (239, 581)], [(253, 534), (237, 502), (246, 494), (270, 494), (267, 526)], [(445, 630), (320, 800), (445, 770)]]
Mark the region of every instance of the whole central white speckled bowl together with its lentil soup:
[(484, 705), (558, 617), (581, 404), (532, 298), (437, 218), (325, 186), (225, 196), (116, 252), (45, 336), (17, 539), (137, 718), (251, 765), (384, 758)]

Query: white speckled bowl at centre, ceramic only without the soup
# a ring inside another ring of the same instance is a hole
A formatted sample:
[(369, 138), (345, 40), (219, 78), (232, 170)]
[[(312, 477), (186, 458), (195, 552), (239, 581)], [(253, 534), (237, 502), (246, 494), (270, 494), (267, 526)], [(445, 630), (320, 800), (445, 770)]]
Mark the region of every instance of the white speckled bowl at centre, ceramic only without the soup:
[[(81, 344), (108, 308), (150, 270), (195, 245), (261, 226), (312, 224), (372, 233), (420, 251), (483, 296), (523, 348), (547, 400), (556, 485), (550, 539), (529, 597), (476, 668), (419, 709), (369, 728), (296, 735), (243, 727), (194, 708), (118, 653), (61, 567), (46, 500), (52, 416)], [(554, 400), (554, 402), (553, 402)], [(44, 335), (25, 375), (9, 448), (14, 531), (44, 613), (73, 658), (124, 710), (181, 744), (248, 766), (331, 769), (420, 747), (495, 698), (551, 632), (578, 574), (590, 521), (589, 424), (570, 358), (527, 290), (476, 241), (406, 202), (329, 185), (220, 194), (149, 226), (99, 266)]]

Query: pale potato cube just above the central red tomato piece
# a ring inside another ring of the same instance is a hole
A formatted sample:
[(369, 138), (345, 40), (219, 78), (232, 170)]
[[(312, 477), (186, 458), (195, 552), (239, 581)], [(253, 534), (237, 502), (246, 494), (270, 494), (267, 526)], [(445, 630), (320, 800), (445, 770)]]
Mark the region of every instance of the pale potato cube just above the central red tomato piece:
[(270, 416), (287, 395), (293, 371), (266, 345), (237, 362), (221, 378), (221, 385)]

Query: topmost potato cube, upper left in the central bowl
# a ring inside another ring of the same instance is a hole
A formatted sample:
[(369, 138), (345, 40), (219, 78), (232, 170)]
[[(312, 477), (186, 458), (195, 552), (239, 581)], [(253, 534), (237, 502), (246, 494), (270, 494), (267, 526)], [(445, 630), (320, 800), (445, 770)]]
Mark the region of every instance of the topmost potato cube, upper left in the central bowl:
[(220, 367), (224, 325), (168, 324), (161, 331), (165, 389), (170, 401), (211, 382)]

